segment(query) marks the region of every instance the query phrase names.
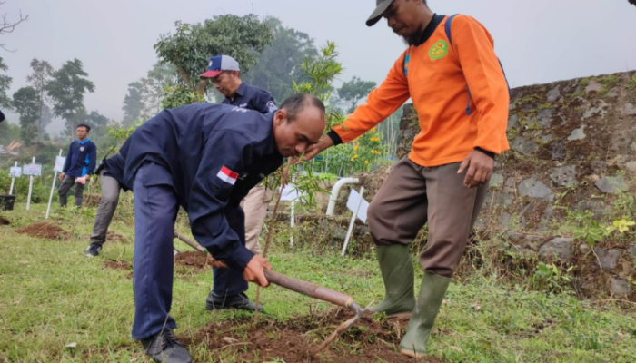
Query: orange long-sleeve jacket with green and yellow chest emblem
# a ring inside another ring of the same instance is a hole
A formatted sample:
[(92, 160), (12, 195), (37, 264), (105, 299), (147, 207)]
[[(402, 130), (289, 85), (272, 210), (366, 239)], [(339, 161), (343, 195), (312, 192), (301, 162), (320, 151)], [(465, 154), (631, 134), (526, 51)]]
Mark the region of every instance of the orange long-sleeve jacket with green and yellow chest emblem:
[(457, 15), (451, 42), (444, 29), (448, 18), (395, 61), (367, 102), (333, 127), (332, 139), (352, 141), (411, 98), (421, 127), (412, 142), (412, 162), (432, 167), (462, 162), (475, 148), (494, 154), (509, 149), (510, 95), (492, 36), (472, 17)]

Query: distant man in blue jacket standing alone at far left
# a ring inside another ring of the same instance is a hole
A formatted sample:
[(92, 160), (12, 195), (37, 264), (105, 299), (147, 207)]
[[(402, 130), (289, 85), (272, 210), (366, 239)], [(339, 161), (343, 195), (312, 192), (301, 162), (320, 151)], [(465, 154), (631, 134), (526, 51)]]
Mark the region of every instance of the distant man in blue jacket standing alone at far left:
[(84, 200), (84, 183), (76, 182), (77, 178), (90, 178), (90, 173), (94, 171), (95, 159), (97, 159), (97, 146), (88, 139), (88, 133), (91, 127), (87, 124), (80, 123), (75, 129), (77, 140), (71, 142), (66, 154), (66, 162), (62, 173), (60, 173), (60, 184), (57, 193), (60, 196), (60, 205), (66, 206), (66, 194), (68, 190), (75, 184), (75, 205), (82, 206)]

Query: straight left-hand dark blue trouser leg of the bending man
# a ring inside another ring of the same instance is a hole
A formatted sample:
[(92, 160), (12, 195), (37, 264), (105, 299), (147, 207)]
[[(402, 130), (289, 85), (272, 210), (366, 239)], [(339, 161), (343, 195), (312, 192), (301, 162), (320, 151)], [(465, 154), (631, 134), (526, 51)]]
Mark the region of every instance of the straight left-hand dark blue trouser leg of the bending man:
[[(172, 176), (161, 166), (144, 163), (134, 177), (134, 323), (133, 338), (148, 338), (176, 328), (173, 301), (174, 220), (176, 193), (164, 181)], [(162, 183), (163, 182), (163, 183)]]

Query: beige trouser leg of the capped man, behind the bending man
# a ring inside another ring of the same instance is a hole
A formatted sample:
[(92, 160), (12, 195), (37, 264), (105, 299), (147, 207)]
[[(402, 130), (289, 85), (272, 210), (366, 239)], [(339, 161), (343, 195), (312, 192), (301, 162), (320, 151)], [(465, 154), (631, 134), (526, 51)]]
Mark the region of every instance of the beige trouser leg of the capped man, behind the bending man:
[(259, 237), (272, 197), (271, 189), (265, 188), (264, 185), (256, 185), (241, 201), (241, 207), (245, 212), (245, 247), (256, 254), (261, 254)]

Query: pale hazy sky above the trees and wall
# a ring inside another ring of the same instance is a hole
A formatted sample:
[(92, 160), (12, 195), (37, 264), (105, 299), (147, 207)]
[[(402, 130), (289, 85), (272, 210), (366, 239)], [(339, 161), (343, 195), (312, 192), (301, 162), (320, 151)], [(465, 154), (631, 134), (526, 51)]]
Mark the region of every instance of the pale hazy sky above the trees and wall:
[[(636, 6), (627, 0), (429, 0), (437, 14), (472, 15), (491, 32), (512, 87), (636, 69)], [(10, 94), (27, 85), (29, 62), (55, 68), (78, 58), (95, 84), (86, 109), (123, 117), (127, 84), (157, 61), (153, 45), (174, 22), (200, 23), (214, 15), (271, 15), (313, 37), (333, 41), (344, 73), (382, 83), (405, 45), (385, 21), (364, 22), (375, 0), (5, 0), (0, 15), (28, 20), (0, 36), (13, 77)], [(213, 55), (213, 54), (211, 54)], [(10, 122), (17, 116), (8, 114)], [(59, 129), (52, 123), (49, 132)]]

